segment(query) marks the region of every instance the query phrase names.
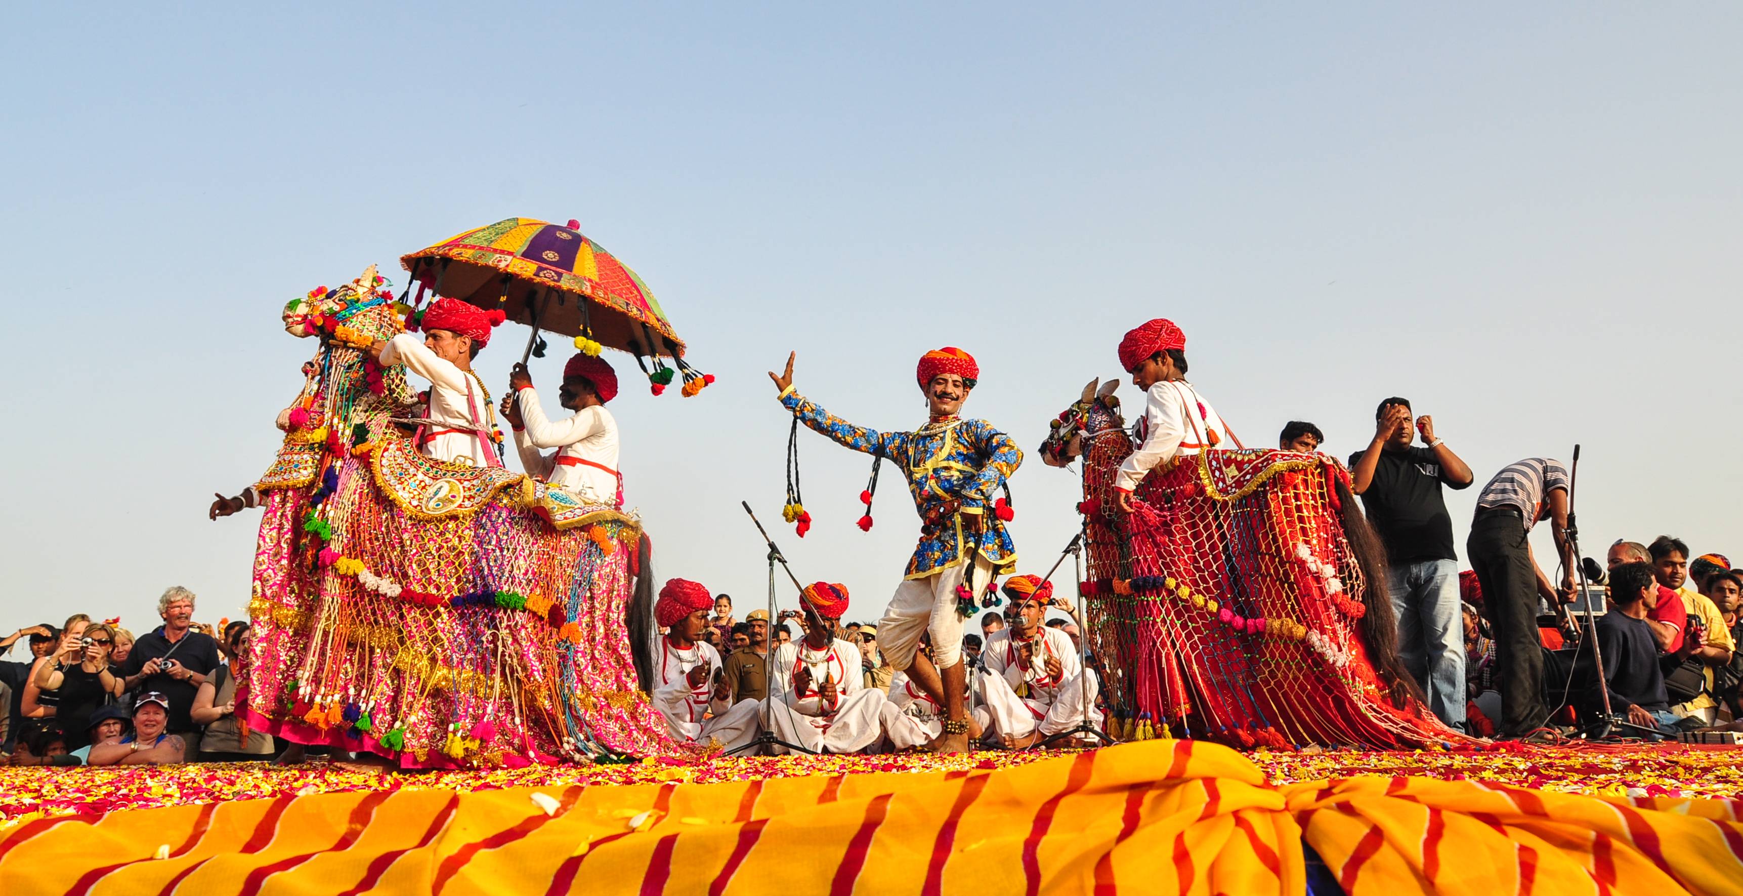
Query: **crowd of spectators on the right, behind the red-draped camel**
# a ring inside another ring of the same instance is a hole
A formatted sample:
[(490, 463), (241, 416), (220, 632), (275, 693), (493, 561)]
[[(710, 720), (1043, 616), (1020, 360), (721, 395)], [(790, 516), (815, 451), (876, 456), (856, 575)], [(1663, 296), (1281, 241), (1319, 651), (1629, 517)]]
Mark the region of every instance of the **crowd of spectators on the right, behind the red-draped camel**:
[[(1692, 556), (1672, 535), (1618, 539), (1607, 570), (1581, 567), (1569, 535), (1569, 471), (1532, 457), (1478, 493), (1464, 544), (1471, 568), (1459, 572), (1443, 493), (1476, 479), (1434, 420), (1412, 415), (1408, 399), (1380, 401), (1373, 438), (1349, 455), (1349, 471), (1386, 546), (1400, 659), (1434, 715), (1471, 734), (1544, 741), (1743, 729), (1743, 570), (1722, 554)], [(1306, 422), (1278, 436), (1292, 451), (1323, 441)], [(1541, 521), (1555, 544), (1548, 563), (1529, 540)], [(1583, 568), (1591, 572), (1591, 626), (1565, 612), (1583, 596)]]

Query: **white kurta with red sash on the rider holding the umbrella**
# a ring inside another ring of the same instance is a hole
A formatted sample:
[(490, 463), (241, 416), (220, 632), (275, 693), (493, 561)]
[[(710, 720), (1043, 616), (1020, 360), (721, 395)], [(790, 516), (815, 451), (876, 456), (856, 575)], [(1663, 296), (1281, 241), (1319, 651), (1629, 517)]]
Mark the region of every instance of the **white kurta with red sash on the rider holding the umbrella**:
[[(514, 431), (521, 467), (539, 479), (573, 493), (587, 504), (617, 506), (617, 420), (603, 404), (582, 408), (568, 420), (551, 422), (533, 387), (516, 396), (523, 429)], [(546, 455), (540, 448), (556, 448)], [(575, 464), (579, 458), (587, 464)], [(607, 472), (610, 471), (610, 472)]]

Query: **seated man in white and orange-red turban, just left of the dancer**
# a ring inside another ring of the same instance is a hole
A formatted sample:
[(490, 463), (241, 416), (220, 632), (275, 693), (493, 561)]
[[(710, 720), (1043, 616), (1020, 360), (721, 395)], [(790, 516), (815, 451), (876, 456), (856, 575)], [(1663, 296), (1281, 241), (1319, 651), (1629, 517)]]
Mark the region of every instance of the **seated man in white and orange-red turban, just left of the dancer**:
[(812, 584), (800, 607), (805, 638), (798, 641), (781, 703), (769, 709), (769, 727), (776, 737), (814, 753), (858, 753), (884, 736), (884, 692), (865, 687), (859, 647), (840, 636), (847, 589)]

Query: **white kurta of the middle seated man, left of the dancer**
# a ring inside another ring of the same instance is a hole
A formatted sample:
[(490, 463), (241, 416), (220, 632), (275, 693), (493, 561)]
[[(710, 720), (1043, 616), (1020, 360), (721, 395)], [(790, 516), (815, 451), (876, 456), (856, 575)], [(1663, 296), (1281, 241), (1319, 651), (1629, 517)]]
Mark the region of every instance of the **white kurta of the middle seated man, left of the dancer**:
[[(800, 666), (810, 669), (810, 683), (804, 692), (797, 690)], [(835, 703), (819, 694), (817, 685), (823, 682), (835, 682)], [(882, 690), (865, 687), (858, 645), (842, 638), (824, 650), (800, 643), (781, 699), (770, 706), (769, 727), (776, 737), (816, 753), (858, 753), (882, 737), (884, 701)]]

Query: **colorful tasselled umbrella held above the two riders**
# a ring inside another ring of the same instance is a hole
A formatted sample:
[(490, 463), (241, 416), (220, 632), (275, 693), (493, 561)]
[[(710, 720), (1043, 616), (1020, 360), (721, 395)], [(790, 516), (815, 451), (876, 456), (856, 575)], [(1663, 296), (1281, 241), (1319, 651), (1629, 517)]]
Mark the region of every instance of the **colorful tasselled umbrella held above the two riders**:
[(643, 370), (655, 394), (673, 377), (659, 356), (676, 363), (685, 394), (701, 390), (713, 377), (685, 364), (683, 340), (654, 291), (577, 227), (577, 221), (558, 227), (509, 218), (404, 255), (399, 263), (422, 288), (481, 309), (502, 309), (509, 321), (532, 326), (535, 335), (549, 329), (575, 336), (587, 354), (612, 347), (634, 354), (636, 363), (650, 356), (654, 368)]

